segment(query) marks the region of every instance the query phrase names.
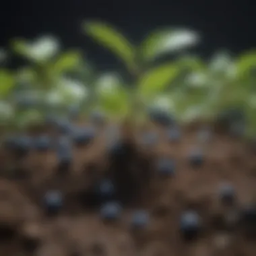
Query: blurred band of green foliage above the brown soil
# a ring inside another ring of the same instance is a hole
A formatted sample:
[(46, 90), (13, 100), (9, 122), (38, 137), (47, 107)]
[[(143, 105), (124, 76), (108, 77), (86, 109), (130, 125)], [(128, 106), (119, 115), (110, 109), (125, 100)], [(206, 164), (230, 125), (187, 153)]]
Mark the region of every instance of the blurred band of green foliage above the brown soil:
[[(7, 52), (0, 51), (1, 124), (27, 127), (42, 122), (49, 111), (64, 111), (73, 104), (82, 113), (96, 108), (110, 117), (123, 117), (131, 110), (137, 115), (139, 108), (158, 106), (181, 121), (212, 119), (236, 106), (247, 115), (247, 133), (255, 134), (256, 51), (238, 57), (220, 51), (204, 61), (189, 53), (201, 41), (192, 30), (156, 30), (137, 45), (104, 22), (84, 22), (83, 31), (123, 61), (132, 82), (115, 72), (98, 74), (82, 52), (61, 51), (53, 36), (14, 39), (12, 53), (30, 64), (10, 71), (2, 65)], [(168, 54), (174, 57), (171, 62), (154, 63)]]

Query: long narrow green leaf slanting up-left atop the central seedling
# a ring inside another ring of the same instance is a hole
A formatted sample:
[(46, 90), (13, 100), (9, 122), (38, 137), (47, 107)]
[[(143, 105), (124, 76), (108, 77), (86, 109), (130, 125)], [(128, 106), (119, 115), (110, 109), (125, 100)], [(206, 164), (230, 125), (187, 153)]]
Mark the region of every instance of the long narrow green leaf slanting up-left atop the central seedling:
[(135, 50), (120, 32), (102, 22), (85, 22), (84, 30), (96, 42), (122, 59), (129, 69), (135, 68)]

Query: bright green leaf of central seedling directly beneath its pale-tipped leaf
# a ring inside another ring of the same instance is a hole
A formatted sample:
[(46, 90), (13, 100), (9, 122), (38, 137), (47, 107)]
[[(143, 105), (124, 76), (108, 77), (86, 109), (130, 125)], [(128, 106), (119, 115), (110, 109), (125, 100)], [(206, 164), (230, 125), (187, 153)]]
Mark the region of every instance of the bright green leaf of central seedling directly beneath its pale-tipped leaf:
[(179, 75), (179, 69), (173, 64), (164, 64), (145, 73), (138, 83), (138, 92), (146, 100), (166, 90)]

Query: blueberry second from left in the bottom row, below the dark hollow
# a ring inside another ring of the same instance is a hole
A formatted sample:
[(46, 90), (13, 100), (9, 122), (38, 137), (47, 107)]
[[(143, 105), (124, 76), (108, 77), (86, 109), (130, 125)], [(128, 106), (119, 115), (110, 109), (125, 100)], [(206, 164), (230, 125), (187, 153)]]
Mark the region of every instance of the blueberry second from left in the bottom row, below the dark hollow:
[(103, 220), (117, 220), (121, 216), (121, 205), (117, 202), (108, 202), (100, 208), (100, 216)]

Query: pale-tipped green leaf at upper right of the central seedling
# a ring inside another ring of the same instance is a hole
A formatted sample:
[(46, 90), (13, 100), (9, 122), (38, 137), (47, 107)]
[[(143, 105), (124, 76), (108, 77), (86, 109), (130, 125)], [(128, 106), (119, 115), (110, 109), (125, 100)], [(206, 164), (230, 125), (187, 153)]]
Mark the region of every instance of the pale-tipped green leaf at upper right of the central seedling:
[(143, 40), (140, 51), (146, 61), (165, 53), (174, 53), (195, 46), (199, 35), (191, 30), (158, 30)]

